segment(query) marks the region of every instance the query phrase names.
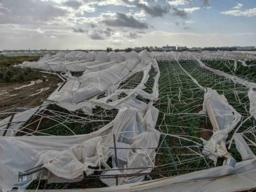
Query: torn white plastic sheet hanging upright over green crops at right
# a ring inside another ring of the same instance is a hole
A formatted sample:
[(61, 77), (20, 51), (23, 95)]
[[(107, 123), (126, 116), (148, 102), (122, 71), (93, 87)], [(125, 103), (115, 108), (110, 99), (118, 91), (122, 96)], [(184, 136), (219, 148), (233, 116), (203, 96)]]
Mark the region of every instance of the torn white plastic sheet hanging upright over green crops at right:
[[(224, 95), (219, 95), (216, 90), (212, 90), (211, 88), (207, 88), (203, 105), (205, 105), (210, 122), (213, 126), (213, 135), (210, 139), (206, 141), (201, 138), (204, 146), (220, 155), (232, 158), (226, 150), (225, 140), (228, 132), (240, 121), (241, 115), (228, 104)], [(202, 153), (207, 154), (208, 152), (203, 150)], [(209, 157), (214, 161), (215, 165), (217, 157), (216, 155)]]

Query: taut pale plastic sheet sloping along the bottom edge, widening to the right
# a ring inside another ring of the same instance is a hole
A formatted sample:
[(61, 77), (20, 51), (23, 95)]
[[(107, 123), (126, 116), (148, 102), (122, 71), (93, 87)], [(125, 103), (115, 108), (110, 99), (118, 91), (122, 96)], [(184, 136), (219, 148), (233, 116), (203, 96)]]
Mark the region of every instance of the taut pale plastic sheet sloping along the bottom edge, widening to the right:
[[(237, 162), (235, 167), (217, 166), (187, 174), (102, 188), (65, 189), (67, 192), (165, 192), (165, 191), (244, 191), (256, 188), (256, 159)], [(34, 190), (26, 190), (34, 191)], [(45, 191), (45, 190), (37, 190)], [(50, 190), (47, 191), (56, 191)]]

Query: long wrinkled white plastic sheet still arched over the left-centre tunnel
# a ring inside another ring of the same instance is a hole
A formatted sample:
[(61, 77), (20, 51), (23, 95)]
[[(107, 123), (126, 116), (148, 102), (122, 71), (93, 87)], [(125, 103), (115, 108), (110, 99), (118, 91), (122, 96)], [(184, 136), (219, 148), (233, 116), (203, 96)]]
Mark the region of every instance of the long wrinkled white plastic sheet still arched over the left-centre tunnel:
[[(67, 102), (67, 103), (78, 103), (82, 100), (88, 99), (100, 92), (106, 90), (111, 85), (114, 85), (124, 78), (127, 78), (131, 74), (142, 70), (146, 65), (140, 62), (139, 56), (145, 54), (142, 51), (139, 55), (137, 53), (128, 52), (124, 55), (125, 61), (115, 64), (107, 69), (91, 72), (85, 75), (82, 75), (78, 78), (72, 78), (71, 80), (79, 83), (78, 88), (72, 87), (72, 89), (55, 92), (55, 95), (51, 95), (51, 100), (56, 102)], [(135, 66), (138, 64), (138, 67)], [(141, 68), (140, 68), (140, 67)], [(135, 67), (135, 68), (134, 68)], [(69, 82), (67, 82), (69, 83)]]

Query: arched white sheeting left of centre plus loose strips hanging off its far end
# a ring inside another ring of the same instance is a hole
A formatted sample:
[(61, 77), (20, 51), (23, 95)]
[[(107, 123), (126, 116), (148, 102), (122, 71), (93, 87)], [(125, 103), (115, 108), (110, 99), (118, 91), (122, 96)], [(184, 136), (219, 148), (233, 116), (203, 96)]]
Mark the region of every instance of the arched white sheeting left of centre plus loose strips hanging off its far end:
[[(121, 58), (119, 53), (112, 53), (109, 56), (111, 59), (113, 58), (119, 60)], [(159, 70), (156, 61), (153, 60), (154, 62), (152, 63), (148, 57), (145, 56), (145, 51), (142, 51), (139, 55), (133, 52), (126, 53), (124, 59), (125, 61), (114, 64), (113, 66), (104, 70), (85, 73), (78, 78), (69, 77), (69, 80), (65, 83), (65, 85), (59, 91), (52, 93), (47, 99), (56, 101), (56, 104), (69, 110), (77, 110), (87, 106), (87, 109), (83, 108), (84, 111), (91, 112), (91, 107), (93, 104), (91, 101), (94, 102), (96, 100), (92, 99), (82, 103), (80, 101), (95, 96), (107, 89), (109, 89), (107, 92), (111, 94), (116, 89), (115, 87), (118, 87), (118, 83), (138, 71), (143, 71), (143, 78), (140, 84), (137, 86), (136, 92), (139, 92), (145, 96), (147, 94), (141, 89), (145, 88), (144, 83), (148, 79), (148, 71), (150, 70), (151, 66), (153, 66), (158, 73), (155, 77), (153, 93), (151, 95), (147, 95), (146, 97), (157, 98)], [(120, 94), (120, 92), (118, 94)], [(98, 100), (98, 102), (100, 101)]]

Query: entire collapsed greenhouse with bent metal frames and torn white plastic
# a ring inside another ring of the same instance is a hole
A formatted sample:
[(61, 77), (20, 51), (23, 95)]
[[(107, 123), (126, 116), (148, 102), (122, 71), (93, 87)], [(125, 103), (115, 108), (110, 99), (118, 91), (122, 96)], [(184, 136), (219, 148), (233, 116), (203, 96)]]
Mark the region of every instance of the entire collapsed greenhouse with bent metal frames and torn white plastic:
[(0, 112), (0, 189), (256, 188), (255, 66), (254, 52), (146, 50), (16, 65), (63, 82)]

